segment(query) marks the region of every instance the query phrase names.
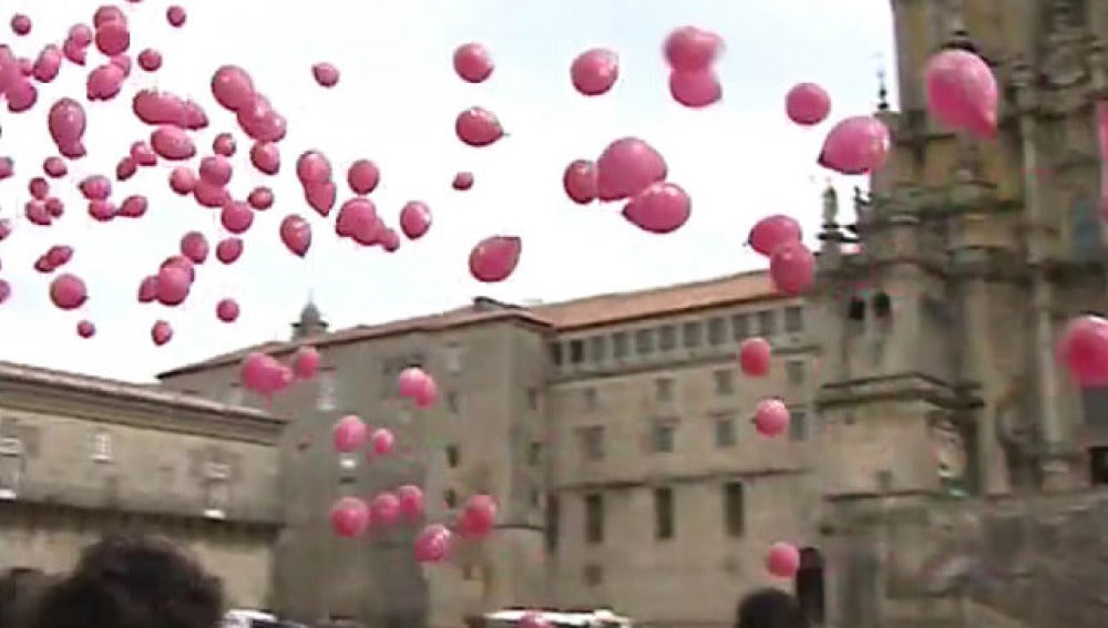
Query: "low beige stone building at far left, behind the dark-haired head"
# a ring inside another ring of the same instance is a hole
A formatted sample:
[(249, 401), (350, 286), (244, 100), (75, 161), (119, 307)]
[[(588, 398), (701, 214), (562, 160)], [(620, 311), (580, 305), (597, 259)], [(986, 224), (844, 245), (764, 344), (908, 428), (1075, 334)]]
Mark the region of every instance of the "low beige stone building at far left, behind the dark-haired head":
[[(191, 546), (266, 607), (284, 424), (156, 387), (0, 362), (0, 573), (61, 573), (104, 533)], [(30, 577), (30, 576), (29, 576)]]

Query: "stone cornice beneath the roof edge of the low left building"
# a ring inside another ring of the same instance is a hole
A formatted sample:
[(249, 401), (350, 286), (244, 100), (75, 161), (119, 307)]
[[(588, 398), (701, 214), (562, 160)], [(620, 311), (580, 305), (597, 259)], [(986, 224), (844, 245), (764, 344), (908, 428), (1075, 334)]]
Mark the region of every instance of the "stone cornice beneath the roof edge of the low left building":
[(233, 406), (215, 412), (0, 378), (0, 412), (3, 409), (263, 445), (276, 445), (284, 430), (279, 419), (238, 412)]

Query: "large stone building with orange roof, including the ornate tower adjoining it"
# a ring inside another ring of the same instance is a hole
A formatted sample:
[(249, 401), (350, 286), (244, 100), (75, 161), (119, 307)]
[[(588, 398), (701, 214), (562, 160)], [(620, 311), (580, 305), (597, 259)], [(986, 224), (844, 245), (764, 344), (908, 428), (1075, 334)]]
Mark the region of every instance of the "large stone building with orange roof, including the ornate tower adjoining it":
[[(278, 403), (296, 416), (281, 446), (284, 610), (391, 627), (609, 606), (644, 625), (722, 626), (783, 539), (806, 560), (779, 584), (820, 624), (1104, 626), (1108, 394), (1073, 390), (1053, 354), (1069, 317), (1108, 301), (1094, 124), (1108, 3), (893, 0), (893, 13), (900, 111), (884, 94), (876, 111), (891, 157), (851, 224), (825, 195), (806, 302), (743, 274), (531, 307), (479, 298), (335, 332), (309, 308), (293, 340), (255, 348), (310, 343), (326, 366)], [(995, 140), (925, 114), (923, 66), (943, 47), (994, 65)], [(747, 334), (773, 341), (772, 378), (735, 374)], [(244, 354), (162, 382), (256, 403), (236, 388)], [(440, 382), (431, 411), (396, 399), (410, 364)], [(753, 433), (766, 395), (792, 406), (788, 437)], [(329, 432), (346, 412), (410, 450), (340, 467)], [(337, 495), (408, 481), (435, 517), (495, 494), (500, 528), (425, 573), (408, 533), (329, 536)]]

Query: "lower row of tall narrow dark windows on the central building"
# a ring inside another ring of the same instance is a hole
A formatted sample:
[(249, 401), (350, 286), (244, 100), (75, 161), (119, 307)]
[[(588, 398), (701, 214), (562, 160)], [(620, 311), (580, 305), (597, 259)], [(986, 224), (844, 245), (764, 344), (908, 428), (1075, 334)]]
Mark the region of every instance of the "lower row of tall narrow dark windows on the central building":
[[(669, 541), (677, 536), (677, 508), (675, 507), (674, 488), (659, 486), (653, 491), (654, 498), (654, 537), (658, 541)], [(607, 529), (607, 516), (602, 493), (589, 493), (584, 501), (585, 543), (599, 545), (604, 543)], [(741, 482), (728, 482), (720, 491), (722, 503), (722, 521), (720, 522), (727, 536), (741, 537), (747, 532), (746, 486)], [(557, 495), (547, 497), (546, 503), (546, 544), (553, 550), (557, 547), (561, 536), (561, 503)]]

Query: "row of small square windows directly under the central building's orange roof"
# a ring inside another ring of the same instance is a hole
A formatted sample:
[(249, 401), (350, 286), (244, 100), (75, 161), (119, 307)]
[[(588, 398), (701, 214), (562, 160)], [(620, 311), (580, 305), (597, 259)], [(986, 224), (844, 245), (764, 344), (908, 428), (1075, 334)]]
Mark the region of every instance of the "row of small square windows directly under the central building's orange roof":
[[(705, 344), (719, 347), (728, 342), (728, 327), (730, 327), (730, 340), (740, 342), (755, 336), (755, 331), (751, 329), (751, 316), (756, 322), (758, 336), (769, 338), (778, 333), (777, 310), (762, 310), (753, 315), (717, 316), (707, 320), (689, 321), (680, 326), (667, 323), (638, 329), (634, 332), (616, 331), (587, 339), (552, 342), (550, 346), (551, 359), (560, 367), (565, 363), (576, 366), (585, 362), (604, 362), (609, 358), (624, 360), (630, 356), (633, 349), (635, 354), (646, 357), (655, 352), (674, 351), (678, 344), (684, 349), (698, 349)], [(728, 326), (728, 323), (730, 325)], [(680, 338), (678, 338), (678, 330)], [(800, 306), (784, 308), (784, 331), (800, 333), (803, 330), (803, 308)], [(634, 340), (634, 346), (632, 340)]]

